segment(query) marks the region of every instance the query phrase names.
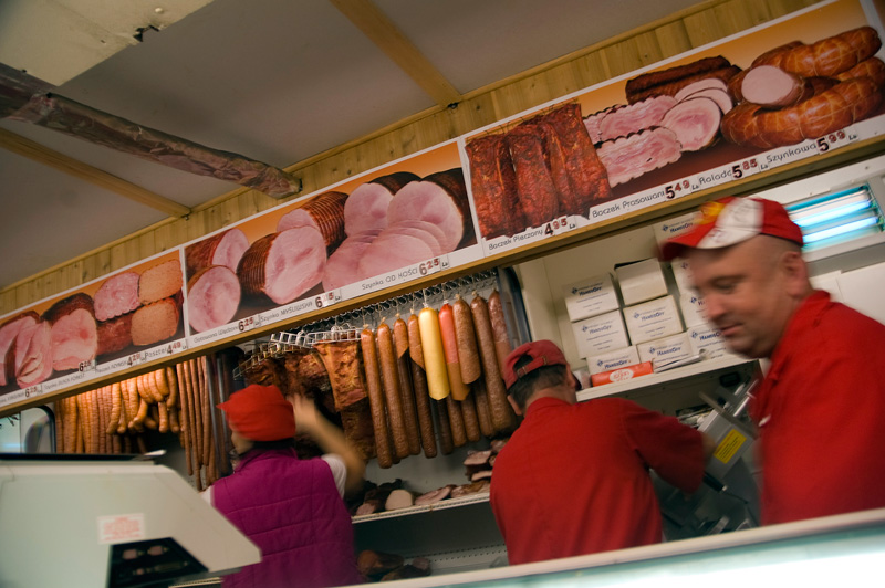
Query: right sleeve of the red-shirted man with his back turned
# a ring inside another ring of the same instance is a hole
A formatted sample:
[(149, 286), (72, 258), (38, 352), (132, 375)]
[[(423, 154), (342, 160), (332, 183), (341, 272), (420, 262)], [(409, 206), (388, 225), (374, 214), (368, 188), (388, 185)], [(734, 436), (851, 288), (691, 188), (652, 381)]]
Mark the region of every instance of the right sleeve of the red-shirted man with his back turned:
[(695, 492), (704, 480), (704, 447), (700, 432), (647, 410), (629, 400), (622, 402), (627, 439), (642, 460), (664, 481), (685, 492)]

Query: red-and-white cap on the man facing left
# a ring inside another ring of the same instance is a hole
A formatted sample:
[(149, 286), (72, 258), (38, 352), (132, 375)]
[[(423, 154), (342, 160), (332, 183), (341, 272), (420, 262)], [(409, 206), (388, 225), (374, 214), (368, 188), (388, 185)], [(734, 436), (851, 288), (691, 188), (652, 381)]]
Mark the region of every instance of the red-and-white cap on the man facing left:
[(660, 258), (664, 261), (678, 258), (686, 248), (726, 248), (758, 234), (787, 239), (800, 246), (804, 243), (802, 230), (790, 220), (780, 202), (729, 196), (702, 204), (691, 229), (662, 245)]

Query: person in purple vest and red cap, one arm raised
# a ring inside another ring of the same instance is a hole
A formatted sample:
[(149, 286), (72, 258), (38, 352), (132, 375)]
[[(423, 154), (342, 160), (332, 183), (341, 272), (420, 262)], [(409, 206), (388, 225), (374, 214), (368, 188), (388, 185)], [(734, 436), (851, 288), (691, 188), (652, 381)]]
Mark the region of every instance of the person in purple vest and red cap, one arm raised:
[[(233, 474), (205, 496), (261, 549), (261, 561), (222, 586), (323, 588), (365, 581), (356, 567), (345, 492), (362, 486), (365, 463), (344, 434), (302, 396), (251, 385), (218, 405), (239, 454)], [(295, 426), (326, 453), (299, 460)]]

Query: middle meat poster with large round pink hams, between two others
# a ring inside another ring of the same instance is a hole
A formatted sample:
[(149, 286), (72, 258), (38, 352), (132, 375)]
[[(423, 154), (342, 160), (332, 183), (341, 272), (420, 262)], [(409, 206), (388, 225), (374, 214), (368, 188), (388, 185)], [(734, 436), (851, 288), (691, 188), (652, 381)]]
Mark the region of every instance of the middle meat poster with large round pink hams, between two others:
[(482, 256), (456, 141), (185, 245), (201, 346)]

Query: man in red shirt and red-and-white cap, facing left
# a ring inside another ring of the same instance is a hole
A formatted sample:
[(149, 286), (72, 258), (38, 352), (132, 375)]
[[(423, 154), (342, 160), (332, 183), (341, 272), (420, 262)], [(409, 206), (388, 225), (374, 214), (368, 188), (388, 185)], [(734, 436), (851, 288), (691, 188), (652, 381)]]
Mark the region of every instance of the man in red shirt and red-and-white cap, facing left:
[(726, 198), (662, 246), (726, 345), (770, 359), (750, 406), (763, 524), (885, 506), (885, 325), (813, 290), (802, 245), (780, 203)]

